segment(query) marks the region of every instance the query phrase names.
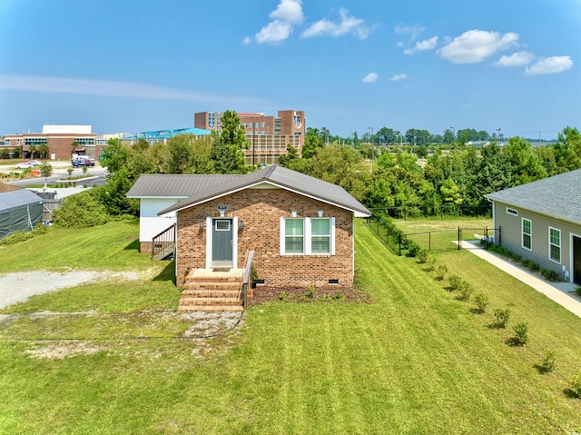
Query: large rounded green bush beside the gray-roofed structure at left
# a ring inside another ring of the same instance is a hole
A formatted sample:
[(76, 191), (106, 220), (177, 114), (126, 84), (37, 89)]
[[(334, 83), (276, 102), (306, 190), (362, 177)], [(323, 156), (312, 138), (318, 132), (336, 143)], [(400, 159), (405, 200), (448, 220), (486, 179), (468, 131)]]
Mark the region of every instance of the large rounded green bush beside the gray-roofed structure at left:
[(54, 211), (54, 223), (68, 228), (88, 228), (109, 222), (109, 214), (93, 192), (84, 191), (67, 196), (63, 206)]

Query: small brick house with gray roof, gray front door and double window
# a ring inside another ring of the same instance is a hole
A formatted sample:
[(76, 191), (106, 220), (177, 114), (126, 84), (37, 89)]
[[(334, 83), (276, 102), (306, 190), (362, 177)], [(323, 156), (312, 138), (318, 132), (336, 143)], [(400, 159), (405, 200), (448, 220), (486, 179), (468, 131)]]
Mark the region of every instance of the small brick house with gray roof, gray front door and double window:
[[(191, 194), (184, 198), (186, 184)], [(193, 271), (239, 270), (254, 251), (267, 286), (350, 287), (354, 218), (370, 215), (340, 186), (276, 165), (246, 175), (142, 175), (128, 196), (140, 198), (142, 210), (155, 199), (173, 202), (156, 214), (176, 223), (178, 286)], [(152, 208), (142, 226), (155, 219)], [(151, 241), (140, 236), (145, 249)]]

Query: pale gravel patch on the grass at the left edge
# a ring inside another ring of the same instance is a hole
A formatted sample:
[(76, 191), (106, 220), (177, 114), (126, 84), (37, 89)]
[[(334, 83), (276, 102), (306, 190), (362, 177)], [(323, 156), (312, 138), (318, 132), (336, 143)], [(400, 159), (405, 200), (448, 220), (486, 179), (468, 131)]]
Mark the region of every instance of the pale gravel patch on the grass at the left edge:
[(34, 294), (55, 292), (92, 281), (127, 280), (140, 278), (138, 272), (12, 272), (0, 275), (0, 308), (24, 302)]

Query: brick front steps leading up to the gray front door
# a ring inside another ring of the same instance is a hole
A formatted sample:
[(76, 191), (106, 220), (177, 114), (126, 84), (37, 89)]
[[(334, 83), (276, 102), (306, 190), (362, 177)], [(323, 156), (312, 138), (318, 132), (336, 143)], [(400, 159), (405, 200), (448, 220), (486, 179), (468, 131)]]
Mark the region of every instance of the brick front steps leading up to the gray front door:
[(183, 284), (178, 311), (243, 311), (243, 269), (196, 269)]

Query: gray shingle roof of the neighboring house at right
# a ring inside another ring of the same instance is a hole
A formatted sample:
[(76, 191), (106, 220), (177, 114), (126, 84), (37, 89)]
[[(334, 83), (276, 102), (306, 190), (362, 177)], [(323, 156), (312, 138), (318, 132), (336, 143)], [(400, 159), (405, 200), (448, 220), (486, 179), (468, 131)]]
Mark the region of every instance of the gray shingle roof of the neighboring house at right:
[(581, 169), (485, 196), (531, 212), (581, 223)]

